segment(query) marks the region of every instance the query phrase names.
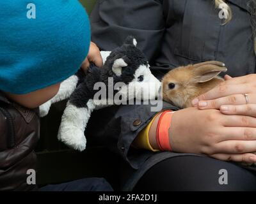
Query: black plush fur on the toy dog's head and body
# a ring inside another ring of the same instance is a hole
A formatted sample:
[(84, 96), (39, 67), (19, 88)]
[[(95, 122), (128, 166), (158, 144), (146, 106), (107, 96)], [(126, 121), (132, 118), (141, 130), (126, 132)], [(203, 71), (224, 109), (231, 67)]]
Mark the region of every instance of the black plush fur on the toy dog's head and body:
[[(98, 90), (93, 90), (95, 83), (103, 82), (108, 89), (108, 78), (113, 77), (113, 85), (117, 82), (129, 84), (129, 82), (134, 79), (136, 69), (138, 69), (140, 65), (148, 65), (147, 57), (133, 45), (133, 40), (134, 38), (129, 36), (125, 40), (124, 45), (113, 50), (102, 68), (97, 68), (97, 66), (92, 64), (85, 77), (83, 73), (77, 73), (79, 81), (76, 90), (70, 96), (70, 103), (72, 105), (77, 106), (77, 108), (86, 107), (88, 100), (93, 99), (95, 93), (98, 92)], [(118, 77), (112, 71), (112, 67), (115, 60), (120, 58), (124, 59), (128, 66), (122, 68), (122, 74)], [(113, 87), (111, 87), (111, 89), (113, 89)], [(117, 91), (113, 90), (114, 94), (116, 92)]]

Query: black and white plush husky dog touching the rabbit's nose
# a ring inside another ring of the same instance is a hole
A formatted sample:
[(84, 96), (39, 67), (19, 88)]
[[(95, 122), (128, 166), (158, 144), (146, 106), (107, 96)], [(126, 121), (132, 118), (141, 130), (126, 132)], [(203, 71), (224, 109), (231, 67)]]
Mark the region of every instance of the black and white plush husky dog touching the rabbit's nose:
[[(60, 91), (54, 98), (40, 106), (40, 115), (44, 117), (52, 103), (70, 98), (62, 115), (59, 140), (82, 151), (86, 147), (84, 129), (94, 109), (116, 105), (116, 100), (119, 105), (120, 100), (156, 98), (161, 82), (152, 75), (147, 58), (136, 48), (136, 44), (136, 40), (129, 36), (122, 47), (112, 52), (101, 52), (102, 68), (91, 66), (87, 75), (78, 71), (61, 83)], [(106, 87), (106, 94), (96, 98), (99, 87)]]

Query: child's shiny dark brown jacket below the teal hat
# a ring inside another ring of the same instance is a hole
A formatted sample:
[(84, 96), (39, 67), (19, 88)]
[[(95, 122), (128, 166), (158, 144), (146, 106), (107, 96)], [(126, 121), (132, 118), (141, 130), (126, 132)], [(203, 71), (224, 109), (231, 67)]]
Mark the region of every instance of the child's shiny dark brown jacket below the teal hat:
[[(30, 191), (27, 184), (36, 168), (34, 152), (39, 139), (40, 118), (37, 110), (29, 110), (6, 99), (0, 92), (0, 191)], [(28, 172), (28, 174), (27, 174)]]

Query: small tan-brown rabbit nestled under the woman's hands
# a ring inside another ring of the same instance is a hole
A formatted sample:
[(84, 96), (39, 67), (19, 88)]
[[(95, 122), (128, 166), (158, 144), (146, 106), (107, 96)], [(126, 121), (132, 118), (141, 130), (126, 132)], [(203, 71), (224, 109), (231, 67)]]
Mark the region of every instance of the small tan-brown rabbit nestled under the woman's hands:
[(181, 66), (169, 71), (163, 78), (163, 99), (180, 108), (188, 108), (191, 101), (211, 90), (224, 79), (218, 77), (227, 71), (225, 64), (208, 61)]

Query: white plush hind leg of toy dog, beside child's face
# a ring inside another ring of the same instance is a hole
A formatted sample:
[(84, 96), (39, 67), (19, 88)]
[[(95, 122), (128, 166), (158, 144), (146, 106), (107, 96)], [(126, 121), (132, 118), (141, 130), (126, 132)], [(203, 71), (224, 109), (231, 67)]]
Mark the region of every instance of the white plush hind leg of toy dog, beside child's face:
[(40, 117), (45, 117), (48, 114), (52, 103), (69, 98), (72, 92), (76, 89), (77, 82), (78, 78), (76, 75), (72, 75), (71, 77), (67, 78), (67, 80), (63, 81), (60, 84), (60, 90), (56, 96), (39, 107)]

